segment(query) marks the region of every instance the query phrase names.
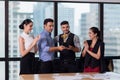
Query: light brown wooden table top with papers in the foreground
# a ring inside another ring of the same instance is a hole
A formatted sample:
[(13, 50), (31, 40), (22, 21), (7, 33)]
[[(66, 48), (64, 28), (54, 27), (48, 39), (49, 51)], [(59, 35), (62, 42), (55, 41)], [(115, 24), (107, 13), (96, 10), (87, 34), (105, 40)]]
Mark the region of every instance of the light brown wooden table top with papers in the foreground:
[(102, 80), (91, 78), (100, 73), (56, 73), (56, 74), (24, 74), (20, 80)]

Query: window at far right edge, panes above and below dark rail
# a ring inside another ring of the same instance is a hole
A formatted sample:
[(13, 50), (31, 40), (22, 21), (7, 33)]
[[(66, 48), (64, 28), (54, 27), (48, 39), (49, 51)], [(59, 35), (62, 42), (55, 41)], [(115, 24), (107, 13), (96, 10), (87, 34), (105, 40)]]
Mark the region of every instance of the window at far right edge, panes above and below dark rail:
[[(104, 4), (104, 42), (106, 56), (120, 56), (120, 4)], [(114, 60), (120, 72), (120, 60)]]

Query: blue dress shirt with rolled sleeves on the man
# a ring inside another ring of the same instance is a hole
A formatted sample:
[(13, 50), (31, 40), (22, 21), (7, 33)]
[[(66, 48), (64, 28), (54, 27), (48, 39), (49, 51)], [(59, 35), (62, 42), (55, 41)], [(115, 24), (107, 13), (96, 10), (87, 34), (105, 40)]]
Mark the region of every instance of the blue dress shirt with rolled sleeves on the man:
[(42, 61), (53, 60), (54, 52), (49, 52), (49, 48), (54, 46), (54, 41), (51, 38), (51, 33), (43, 30), (40, 33), (40, 40), (38, 41), (39, 59)]

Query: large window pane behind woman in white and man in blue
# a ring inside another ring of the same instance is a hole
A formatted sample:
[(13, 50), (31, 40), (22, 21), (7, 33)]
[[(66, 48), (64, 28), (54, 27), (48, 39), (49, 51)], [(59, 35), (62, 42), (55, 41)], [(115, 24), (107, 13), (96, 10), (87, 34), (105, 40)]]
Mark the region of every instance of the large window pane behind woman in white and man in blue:
[(36, 36), (43, 29), (45, 18), (53, 18), (52, 2), (22, 2), (9, 1), (9, 57), (20, 57), (18, 37), (22, 33), (20, 23), (26, 19), (32, 19), (33, 31)]

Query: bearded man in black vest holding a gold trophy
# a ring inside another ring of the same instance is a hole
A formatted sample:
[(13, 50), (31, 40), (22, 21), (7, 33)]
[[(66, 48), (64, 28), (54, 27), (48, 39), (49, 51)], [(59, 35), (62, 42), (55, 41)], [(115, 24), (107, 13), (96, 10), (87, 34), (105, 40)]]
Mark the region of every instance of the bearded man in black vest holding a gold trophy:
[(79, 37), (70, 32), (68, 21), (62, 21), (60, 25), (63, 33), (55, 37), (55, 42), (65, 46), (65, 49), (60, 51), (60, 72), (76, 72), (75, 53), (80, 52)]

